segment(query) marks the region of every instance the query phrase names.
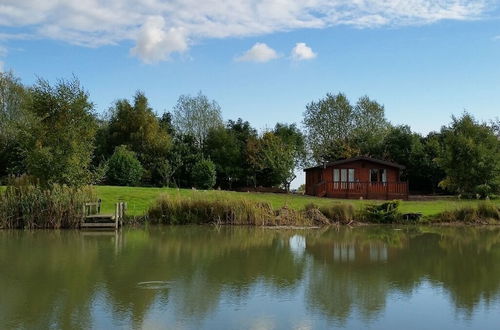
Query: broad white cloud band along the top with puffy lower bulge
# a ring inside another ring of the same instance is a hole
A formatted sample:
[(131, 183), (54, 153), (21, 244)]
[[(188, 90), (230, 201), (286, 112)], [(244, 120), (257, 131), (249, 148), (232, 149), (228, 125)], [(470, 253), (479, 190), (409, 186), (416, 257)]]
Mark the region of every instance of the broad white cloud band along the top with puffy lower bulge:
[(0, 30), (3, 39), (49, 38), (91, 47), (133, 41), (136, 56), (155, 62), (185, 51), (188, 40), (470, 20), (496, 6), (492, 0), (3, 0)]

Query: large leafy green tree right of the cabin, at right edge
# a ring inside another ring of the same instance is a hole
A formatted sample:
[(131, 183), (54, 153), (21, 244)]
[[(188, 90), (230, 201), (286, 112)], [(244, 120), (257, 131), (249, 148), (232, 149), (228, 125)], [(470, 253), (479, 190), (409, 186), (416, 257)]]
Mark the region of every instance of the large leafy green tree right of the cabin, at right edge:
[(464, 113), (441, 129), (443, 150), (438, 158), (446, 173), (440, 185), (452, 192), (485, 197), (499, 191), (500, 140), (494, 129)]

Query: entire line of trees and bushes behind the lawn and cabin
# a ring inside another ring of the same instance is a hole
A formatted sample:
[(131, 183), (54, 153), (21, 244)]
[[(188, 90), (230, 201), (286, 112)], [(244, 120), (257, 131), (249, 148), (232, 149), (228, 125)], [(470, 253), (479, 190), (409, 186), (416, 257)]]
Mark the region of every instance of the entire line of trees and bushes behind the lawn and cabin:
[(77, 78), (26, 86), (0, 73), (0, 178), (28, 174), (44, 184), (289, 189), (295, 172), (358, 155), (406, 165), (410, 189), (481, 196), (500, 187), (500, 124), (452, 117), (425, 136), (392, 125), (385, 109), (342, 93), (306, 106), (303, 130), (277, 123), (258, 132), (223, 121), (201, 92), (157, 114), (146, 95), (119, 99), (99, 115)]

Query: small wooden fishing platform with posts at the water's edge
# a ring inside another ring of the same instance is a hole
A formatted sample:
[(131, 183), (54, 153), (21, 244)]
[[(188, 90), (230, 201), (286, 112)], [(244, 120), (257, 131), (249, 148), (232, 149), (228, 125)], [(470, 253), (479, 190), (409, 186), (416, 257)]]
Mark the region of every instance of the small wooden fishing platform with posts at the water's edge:
[(101, 200), (83, 205), (83, 218), (80, 228), (118, 229), (123, 225), (127, 204), (118, 202), (114, 214), (101, 213)]

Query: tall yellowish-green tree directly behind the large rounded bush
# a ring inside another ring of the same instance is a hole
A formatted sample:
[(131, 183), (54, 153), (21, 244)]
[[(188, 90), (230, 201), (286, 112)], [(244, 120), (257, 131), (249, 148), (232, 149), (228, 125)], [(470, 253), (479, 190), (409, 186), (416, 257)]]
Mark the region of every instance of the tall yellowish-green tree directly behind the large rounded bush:
[[(137, 92), (134, 102), (122, 99), (115, 102), (110, 110), (111, 116), (106, 135), (107, 152), (119, 145), (126, 145), (137, 154), (145, 169), (145, 181), (163, 185), (167, 157), (172, 146), (168, 133), (168, 118), (160, 121), (148, 99), (142, 92)], [(161, 164), (161, 165), (160, 165)]]

